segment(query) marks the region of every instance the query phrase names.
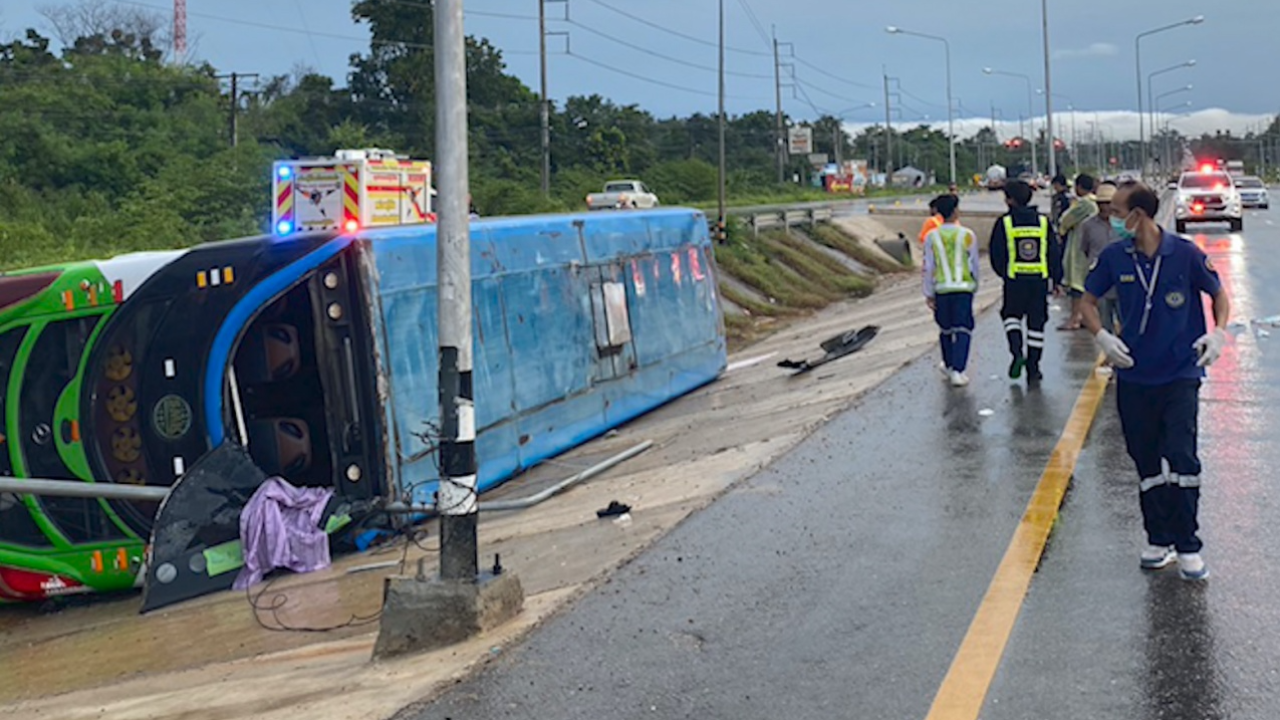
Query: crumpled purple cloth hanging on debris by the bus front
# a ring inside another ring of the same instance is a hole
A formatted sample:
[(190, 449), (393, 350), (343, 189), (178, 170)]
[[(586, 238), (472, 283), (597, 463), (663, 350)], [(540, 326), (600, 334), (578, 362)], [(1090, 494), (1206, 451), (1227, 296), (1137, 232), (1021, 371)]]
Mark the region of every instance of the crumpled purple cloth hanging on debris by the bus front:
[(236, 578), (241, 591), (276, 568), (311, 573), (329, 566), (329, 537), (320, 525), (333, 488), (297, 488), (284, 478), (268, 478), (241, 511), (244, 568)]

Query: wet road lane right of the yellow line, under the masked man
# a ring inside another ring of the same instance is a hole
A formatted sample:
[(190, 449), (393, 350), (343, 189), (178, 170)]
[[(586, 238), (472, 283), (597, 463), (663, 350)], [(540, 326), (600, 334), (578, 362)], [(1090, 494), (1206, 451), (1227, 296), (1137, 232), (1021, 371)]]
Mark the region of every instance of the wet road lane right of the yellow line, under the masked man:
[[(1197, 228), (1192, 228), (1197, 231)], [(1190, 236), (1238, 320), (1280, 314), (1280, 213)], [(1261, 331), (1261, 332), (1260, 332)], [(1240, 332), (1201, 391), (1207, 584), (1135, 570), (1143, 542), (1114, 393), (1091, 433), (986, 720), (1280, 717), (1280, 334)]]

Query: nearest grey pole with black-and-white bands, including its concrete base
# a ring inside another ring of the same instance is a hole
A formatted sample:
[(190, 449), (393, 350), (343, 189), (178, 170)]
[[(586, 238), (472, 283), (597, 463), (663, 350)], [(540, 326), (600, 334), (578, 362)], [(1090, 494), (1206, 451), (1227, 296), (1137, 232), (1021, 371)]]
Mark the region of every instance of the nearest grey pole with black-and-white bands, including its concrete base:
[(520, 580), (480, 574), (476, 547), (476, 423), (471, 380), (471, 237), (467, 208), (467, 64), (462, 0), (435, 0), (435, 151), (439, 169), (440, 574), (387, 578), (375, 657), (461, 642), (520, 611)]

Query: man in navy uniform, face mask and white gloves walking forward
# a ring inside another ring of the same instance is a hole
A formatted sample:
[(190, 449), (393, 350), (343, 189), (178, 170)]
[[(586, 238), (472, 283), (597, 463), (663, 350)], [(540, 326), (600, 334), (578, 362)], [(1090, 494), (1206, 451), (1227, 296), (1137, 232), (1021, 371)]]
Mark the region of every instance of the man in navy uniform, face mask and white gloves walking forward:
[[(1120, 242), (1102, 251), (1085, 281), (1083, 316), (1116, 368), (1116, 405), (1129, 456), (1138, 468), (1139, 502), (1149, 570), (1178, 561), (1181, 577), (1202, 580), (1201, 462), (1196, 450), (1199, 386), (1222, 354), (1230, 301), (1213, 263), (1194, 243), (1153, 219), (1160, 199), (1125, 183), (1111, 200), (1110, 223)], [(1116, 290), (1120, 334), (1102, 328), (1098, 299)], [(1206, 329), (1201, 293), (1213, 299)]]

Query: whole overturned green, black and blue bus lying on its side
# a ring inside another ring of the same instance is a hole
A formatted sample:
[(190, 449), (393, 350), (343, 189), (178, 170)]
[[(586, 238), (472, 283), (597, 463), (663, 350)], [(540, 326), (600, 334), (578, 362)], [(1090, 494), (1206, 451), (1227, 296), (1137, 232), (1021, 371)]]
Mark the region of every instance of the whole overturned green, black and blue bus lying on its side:
[[(0, 475), (170, 488), (234, 445), (264, 477), (332, 487), (351, 507), (429, 502), (435, 232), (255, 237), (0, 275)], [(479, 220), (471, 252), (481, 491), (724, 368), (698, 211)], [(134, 587), (159, 507), (0, 492), (0, 602)]]

